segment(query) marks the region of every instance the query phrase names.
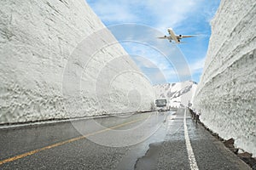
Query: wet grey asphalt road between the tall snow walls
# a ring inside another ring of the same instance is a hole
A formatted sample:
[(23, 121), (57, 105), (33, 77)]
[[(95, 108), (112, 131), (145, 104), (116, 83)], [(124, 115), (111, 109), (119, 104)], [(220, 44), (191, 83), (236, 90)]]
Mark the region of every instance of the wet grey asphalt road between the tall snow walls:
[(0, 129), (0, 169), (250, 168), (179, 109)]

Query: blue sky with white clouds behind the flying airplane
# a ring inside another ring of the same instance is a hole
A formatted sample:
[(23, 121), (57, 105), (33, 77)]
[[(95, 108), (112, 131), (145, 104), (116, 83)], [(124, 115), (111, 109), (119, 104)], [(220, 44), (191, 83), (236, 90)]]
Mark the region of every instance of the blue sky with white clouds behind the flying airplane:
[[(220, 0), (87, 0), (153, 84), (199, 82)], [(156, 37), (198, 35), (175, 44)]]

